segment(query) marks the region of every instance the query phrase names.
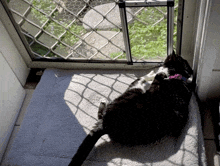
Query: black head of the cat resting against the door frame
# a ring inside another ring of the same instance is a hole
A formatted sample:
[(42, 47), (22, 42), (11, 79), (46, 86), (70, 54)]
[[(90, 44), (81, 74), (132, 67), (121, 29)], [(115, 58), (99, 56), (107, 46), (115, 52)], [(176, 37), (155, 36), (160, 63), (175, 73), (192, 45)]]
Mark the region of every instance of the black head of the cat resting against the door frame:
[(173, 52), (167, 56), (164, 61), (164, 67), (168, 68), (169, 75), (181, 74), (183, 77), (189, 78), (193, 74), (193, 70), (189, 63)]

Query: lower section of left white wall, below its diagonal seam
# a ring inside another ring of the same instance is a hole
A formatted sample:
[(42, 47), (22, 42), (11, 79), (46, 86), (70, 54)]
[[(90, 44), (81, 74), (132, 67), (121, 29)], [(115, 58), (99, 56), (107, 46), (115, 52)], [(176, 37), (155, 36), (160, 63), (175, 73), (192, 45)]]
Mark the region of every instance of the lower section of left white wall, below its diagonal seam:
[(0, 159), (4, 154), (25, 90), (0, 52)]

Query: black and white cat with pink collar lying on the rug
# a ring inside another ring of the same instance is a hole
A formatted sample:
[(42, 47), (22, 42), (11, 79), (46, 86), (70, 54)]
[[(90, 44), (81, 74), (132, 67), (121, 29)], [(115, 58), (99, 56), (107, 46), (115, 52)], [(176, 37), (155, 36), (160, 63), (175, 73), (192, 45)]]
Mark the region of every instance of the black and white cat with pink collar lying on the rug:
[(178, 138), (188, 120), (192, 91), (187, 79), (192, 72), (188, 62), (173, 53), (156, 74), (135, 80), (114, 101), (102, 102), (98, 122), (69, 166), (80, 166), (104, 134), (125, 145), (150, 144), (165, 136)]

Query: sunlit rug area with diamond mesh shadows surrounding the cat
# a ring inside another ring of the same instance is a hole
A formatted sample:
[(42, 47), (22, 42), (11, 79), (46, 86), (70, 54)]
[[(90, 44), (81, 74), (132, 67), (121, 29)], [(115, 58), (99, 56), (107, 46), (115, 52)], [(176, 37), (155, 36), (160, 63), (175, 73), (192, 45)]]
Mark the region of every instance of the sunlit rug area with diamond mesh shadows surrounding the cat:
[[(142, 73), (144, 74), (144, 72)], [(133, 80), (135, 73), (75, 73), (65, 91), (64, 100), (88, 134), (97, 122), (97, 111), (102, 99), (111, 101), (123, 93)], [(74, 100), (73, 100), (74, 98)], [(190, 113), (190, 117), (191, 117)], [(196, 118), (196, 117), (195, 117)], [(190, 148), (198, 140), (192, 121), (187, 124), (184, 134), (178, 140), (171, 137), (148, 146), (123, 146), (103, 136), (89, 154), (85, 165), (184, 165), (198, 159), (198, 154)], [(189, 130), (189, 131), (188, 131)], [(192, 133), (191, 133), (192, 132)], [(84, 139), (84, 138), (81, 138)], [(189, 141), (190, 140), (190, 141)], [(192, 142), (191, 142), (192, 141)], [(197, 142), (198, 143), (198, 142)], [(191, 164), (189, 164), (191, 165)]]

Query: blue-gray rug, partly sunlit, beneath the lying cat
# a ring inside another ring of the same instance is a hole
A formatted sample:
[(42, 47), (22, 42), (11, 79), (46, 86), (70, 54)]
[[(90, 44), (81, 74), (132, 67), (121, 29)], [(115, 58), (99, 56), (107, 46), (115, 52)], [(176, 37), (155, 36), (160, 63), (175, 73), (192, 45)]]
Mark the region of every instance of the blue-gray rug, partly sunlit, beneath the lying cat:
[[(38, 84), (5, 165), (65, 166), (97, 121), (101, 100), (113, 100), (146, 71), (47, 69)], [(125, 147), (103, 136), (85, 166), (206, 165), (196, 98), (178, 141)]]

